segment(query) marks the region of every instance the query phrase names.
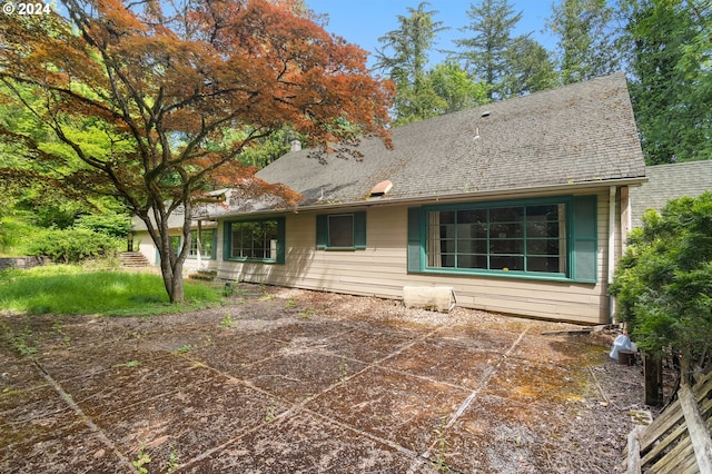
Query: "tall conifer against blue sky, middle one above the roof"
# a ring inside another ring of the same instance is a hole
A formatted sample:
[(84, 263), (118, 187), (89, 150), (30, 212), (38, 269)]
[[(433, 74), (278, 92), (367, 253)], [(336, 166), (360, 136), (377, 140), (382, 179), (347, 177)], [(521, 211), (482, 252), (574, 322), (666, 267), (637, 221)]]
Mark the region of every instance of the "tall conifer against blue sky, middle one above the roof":
[(515, 47), (512, 30), (522, 19), (522, 12), (515, 14), (507, 0), (482, 0), (471, 3), (467, 17), (471, 23), (461, 31), (474, 36), (454, 41), (461, 49), (456, 58), (465, 62), (468, 72), (488, 86), (490, 100), (507, 97), (505, 82), (512, 75), (508, 55)]

